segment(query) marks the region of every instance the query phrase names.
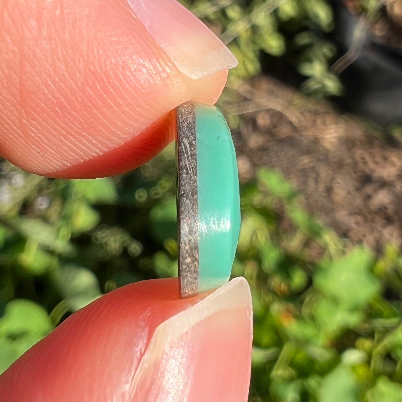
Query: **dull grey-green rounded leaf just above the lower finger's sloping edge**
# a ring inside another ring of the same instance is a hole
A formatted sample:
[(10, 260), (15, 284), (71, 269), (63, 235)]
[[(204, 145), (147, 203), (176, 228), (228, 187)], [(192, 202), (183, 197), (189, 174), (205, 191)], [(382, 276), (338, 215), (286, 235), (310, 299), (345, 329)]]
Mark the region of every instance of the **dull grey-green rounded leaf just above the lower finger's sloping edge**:
[(79, 310), (102, 295), (95, 274), (83, 267), (65, 265), (54, 274), (53, 280), (72, 311)]

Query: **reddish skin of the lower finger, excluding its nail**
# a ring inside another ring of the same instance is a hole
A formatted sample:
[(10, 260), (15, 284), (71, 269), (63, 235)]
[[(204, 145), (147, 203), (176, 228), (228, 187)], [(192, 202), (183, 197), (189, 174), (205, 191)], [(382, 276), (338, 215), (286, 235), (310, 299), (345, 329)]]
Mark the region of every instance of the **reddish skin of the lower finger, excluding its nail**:
[(4, 371), (0, 400), (130, 400), (133, 375), (155, 328), (199, 299), (180, 299), (177, 278), (107, 293)]

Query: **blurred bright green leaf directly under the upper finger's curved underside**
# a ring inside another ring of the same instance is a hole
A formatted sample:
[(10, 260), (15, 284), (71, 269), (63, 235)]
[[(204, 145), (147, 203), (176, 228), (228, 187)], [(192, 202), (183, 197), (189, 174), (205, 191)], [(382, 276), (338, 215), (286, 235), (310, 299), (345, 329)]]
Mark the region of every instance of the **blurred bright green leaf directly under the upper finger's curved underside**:
[(71, 180), (74, 191), (90, 204), (113, 204), (117, 201), (116, 185), (111, 178)]

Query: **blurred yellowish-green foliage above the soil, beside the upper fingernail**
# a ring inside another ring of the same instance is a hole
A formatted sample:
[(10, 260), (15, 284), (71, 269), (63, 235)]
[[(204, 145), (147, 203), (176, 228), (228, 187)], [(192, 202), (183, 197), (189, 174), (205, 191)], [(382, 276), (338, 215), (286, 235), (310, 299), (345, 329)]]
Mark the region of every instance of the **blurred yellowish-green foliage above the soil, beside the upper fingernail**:
[(301, 86), (304, 92), (318, 97), (342, 94), (340, 80), (330, 71), (336, 47), (326, 38), (334, 25), (328, 0), (180, 2), (220, 33), (237, 57), (239, 65), (230, 72), (230, 80), (258, 74), (265, 52), (308, 77)]

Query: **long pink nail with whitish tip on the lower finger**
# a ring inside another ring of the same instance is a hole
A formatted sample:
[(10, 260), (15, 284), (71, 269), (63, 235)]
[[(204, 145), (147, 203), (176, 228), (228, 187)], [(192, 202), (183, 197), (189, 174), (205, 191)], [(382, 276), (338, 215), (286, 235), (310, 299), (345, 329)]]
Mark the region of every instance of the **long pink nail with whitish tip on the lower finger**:
[(246, 401), (251, 347), (250, 288), (236, 278), (156, 328), (133, 399)]

